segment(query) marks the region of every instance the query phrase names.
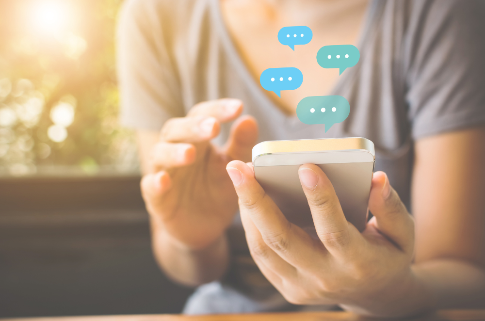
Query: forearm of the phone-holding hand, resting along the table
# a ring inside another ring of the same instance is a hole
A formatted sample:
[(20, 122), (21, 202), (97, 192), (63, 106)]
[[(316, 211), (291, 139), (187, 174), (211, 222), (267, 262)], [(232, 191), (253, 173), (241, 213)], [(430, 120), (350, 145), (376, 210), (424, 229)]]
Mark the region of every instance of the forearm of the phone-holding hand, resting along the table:
[(485, 270), (459, 260), (414, 264), (382, 293), (344, 309), (377, 317), (406, 317), (439, 308), (485, 307)]

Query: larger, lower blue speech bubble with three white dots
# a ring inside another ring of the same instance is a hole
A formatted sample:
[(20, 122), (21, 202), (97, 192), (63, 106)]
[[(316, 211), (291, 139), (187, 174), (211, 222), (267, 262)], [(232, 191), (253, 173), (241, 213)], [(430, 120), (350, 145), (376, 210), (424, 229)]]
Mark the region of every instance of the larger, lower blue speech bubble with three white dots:
[(268, 68), (259, 77), (261, 86), (281, 97), (282, 90), (294, 90), (303, 83), (303, 74), (298, 68)]

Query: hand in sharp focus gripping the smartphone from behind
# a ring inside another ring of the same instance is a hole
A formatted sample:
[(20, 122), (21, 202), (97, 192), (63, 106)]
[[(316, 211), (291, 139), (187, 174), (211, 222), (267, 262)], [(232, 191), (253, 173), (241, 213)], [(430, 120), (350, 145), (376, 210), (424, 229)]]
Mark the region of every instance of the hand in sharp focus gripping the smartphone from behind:
[(290, 303), (340, 304), (385, 316), (417, 287), (411, 272), (414, 221), (385, 173), (373, 175), (369, 209), (374, 217), (360, 233), (345, 219), (323, 171), (302, 165), (300, 181), (318, 235), (313, 239), (286, 219), (250, 163), (234, 160), (226, 169), (239, 196), (251, 256)]

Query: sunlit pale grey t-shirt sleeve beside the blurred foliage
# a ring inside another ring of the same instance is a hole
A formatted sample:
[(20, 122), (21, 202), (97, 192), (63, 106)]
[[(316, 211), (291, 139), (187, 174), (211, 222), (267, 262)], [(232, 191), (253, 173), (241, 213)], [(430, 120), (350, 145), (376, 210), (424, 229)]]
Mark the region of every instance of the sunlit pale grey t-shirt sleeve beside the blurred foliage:
[(174, 36), (168, 32), (173, 32), (173, 17), (170, 8), (157, 7), (169, 2), (128, 0), (118, 17), (116, 54), (123, 126), (159, 130), (168, 118), (184, 113), (170, 53)]

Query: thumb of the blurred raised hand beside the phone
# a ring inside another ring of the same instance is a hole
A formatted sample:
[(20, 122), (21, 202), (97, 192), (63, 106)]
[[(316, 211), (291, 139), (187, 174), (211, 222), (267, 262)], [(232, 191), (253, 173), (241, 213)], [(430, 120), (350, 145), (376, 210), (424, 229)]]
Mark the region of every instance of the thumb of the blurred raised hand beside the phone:
[(231, 127), (226, 143), (226, 154), (233, 160), (251, 161), (251, 150), (258, 139), (258, 123), (246, 115), (237, 119)]

